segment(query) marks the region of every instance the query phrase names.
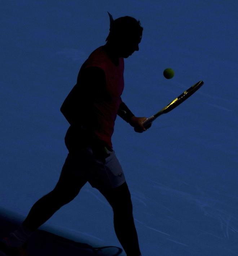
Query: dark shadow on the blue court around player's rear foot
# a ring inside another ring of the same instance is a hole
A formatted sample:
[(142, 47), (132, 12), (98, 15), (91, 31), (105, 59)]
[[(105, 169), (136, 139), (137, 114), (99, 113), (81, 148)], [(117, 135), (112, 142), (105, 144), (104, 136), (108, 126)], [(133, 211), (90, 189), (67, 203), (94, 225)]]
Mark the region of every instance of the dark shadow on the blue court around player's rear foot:
[[(22, 221), (21, 218), (0, 209), (0, 239), (15, 231)], [(57, 233), (55, 231), (54, 233)], [(114, 246), (104, 246), (85, 243), (85, 239), (76, 241), (56, 235), (52, 232), (38, 229), (32, 234), (27, 244), (28, 256), (116, 256), (122, 255), (122, 249)], [(83, 243), (83, 242), (84, 243)]]

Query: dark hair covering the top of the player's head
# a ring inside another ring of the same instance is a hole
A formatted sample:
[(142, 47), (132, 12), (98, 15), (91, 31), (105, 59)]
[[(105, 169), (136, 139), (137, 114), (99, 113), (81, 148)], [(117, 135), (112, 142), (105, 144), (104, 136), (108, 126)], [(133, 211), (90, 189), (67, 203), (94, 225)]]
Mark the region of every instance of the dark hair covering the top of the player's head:
[(107, 40), (116, 39), (120, 37), (141, 37), (143, 27), (141, 27), (140, 21), (130, 16), (124, 16), (117, 18), (111, 24), (109, 35)]

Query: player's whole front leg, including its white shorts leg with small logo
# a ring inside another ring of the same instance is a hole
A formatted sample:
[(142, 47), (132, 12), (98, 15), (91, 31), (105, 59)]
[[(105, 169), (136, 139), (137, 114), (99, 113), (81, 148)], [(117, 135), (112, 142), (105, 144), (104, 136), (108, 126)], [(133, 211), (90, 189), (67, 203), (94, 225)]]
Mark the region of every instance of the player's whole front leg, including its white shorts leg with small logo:
[(91, 150), (94, 168), (90, 170), (89, 183), (107, 199), (114, 212), (114, 228), (119, 242), (128, 256), (140, 256), (138, 237), (132, 214), (131, 195), (125, 176), (114, 150), (102, 161)]

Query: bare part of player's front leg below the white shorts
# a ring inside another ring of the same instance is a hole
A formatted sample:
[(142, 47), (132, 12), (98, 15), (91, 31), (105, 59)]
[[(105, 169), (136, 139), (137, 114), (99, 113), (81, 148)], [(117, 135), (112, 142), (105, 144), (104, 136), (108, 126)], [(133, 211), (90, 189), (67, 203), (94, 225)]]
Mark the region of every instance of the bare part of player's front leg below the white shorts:
[(140, 256), (138, 236), (132, 213), (131, 194), (127, 183), (109, 190), (99, 189), (113, 208), (116, 236), (127, 256)]

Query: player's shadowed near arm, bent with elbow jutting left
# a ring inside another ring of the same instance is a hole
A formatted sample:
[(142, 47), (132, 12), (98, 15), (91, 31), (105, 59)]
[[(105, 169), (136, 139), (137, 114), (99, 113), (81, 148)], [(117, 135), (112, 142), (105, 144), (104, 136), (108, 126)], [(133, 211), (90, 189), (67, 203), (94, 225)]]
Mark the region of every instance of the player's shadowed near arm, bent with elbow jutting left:
[[(101, 155), (105, 143), (99, 140), (93, 132), (99, 125), (94, 103), (102, 101), (104, 97), (107, 97), (104, 71), (97, 67), (81, 69), (77, 84), (70, 91), (60, 109), (71, 125), (70, 134), (66, 135), (69, 144), (77, 144), (76, 138), (79, 136), (84, 140), (83, 143), (92, 146), (95, 154)], [(80, 136), (81, 125), (87, 128), (87, 132), (83, 132), (83, 138)]]

